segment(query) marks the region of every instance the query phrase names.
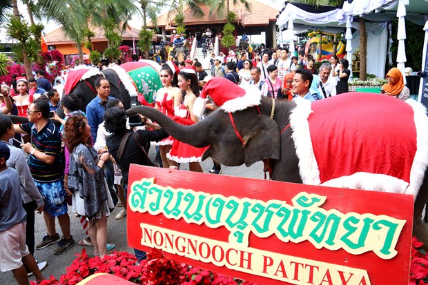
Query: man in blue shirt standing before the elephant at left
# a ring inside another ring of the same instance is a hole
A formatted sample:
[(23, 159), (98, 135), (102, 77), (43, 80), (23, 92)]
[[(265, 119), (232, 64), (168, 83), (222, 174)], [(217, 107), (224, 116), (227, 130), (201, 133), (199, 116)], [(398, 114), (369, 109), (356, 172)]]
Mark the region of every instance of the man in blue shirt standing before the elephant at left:
[(86, 106), (86, 117), (90, 126), (90, 135), (94, 141), (97, 140), (98, 126), (104, 121), (104, 107), (101, 106), (102, 100), (113, 99), (110, 95), (110, 83), (104, 77), (95, 80), (95, 89), (97, 90), (97, 97), (89, 102)]

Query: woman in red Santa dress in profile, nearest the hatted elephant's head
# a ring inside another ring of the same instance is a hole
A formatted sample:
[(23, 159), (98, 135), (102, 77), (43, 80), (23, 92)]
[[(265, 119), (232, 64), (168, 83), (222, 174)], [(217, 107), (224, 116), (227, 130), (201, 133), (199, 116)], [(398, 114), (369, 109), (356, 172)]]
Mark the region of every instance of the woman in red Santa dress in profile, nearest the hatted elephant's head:
[[(186, 92), (186, 95), (183, 104), (179, 106), (178, 110), (175, 109), (174, 119), (179, 124), (185, 126), (195, 124), (198, 119), (193, 114), (192, 109), (195, 99), (199, 96), (199, 83), (195, 70), (190, 68), (182, 69), (178, 74), (178, 87)], [(166, 156), (177, 164), (188, 162), (189, 170), (202, 173), (200, 161), (202, 161), (202, 154), (206, 148), (195, 148), (194, 146), (175, 140), (173, 148), (171, 148), (171, 151)]]

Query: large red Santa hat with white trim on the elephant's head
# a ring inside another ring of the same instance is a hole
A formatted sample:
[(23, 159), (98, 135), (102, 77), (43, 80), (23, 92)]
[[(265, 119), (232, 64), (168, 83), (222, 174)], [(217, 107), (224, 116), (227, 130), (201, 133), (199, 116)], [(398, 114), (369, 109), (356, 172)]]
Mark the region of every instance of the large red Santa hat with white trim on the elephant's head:
[(202, 117), (206, 97), (211, 97), (217, 108), (224, 112), (235, 112), (252, 106), (258, 106), (262, 93), (254, 85), (247, 84), (244, 88), (223, 77), (213, 77), (202, 89), (193, 104), (193, 114)]

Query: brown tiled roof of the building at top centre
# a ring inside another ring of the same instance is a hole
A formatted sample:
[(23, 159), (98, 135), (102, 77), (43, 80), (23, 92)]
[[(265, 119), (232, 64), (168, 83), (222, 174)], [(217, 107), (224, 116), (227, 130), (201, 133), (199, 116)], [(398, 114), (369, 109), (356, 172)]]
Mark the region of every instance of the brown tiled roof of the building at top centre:
[[(231, 11), (237, 14), (238, 22), (242, 26), (267, 26), (269, 21), (276, 21), (276, 16), (280, 12), (280, 9), (271, 8), (255, 0), (247, 0), (251, 4), (251, 12), (247, 11), (244, 7), (244, 4), (237, 1), (237, 4), (234, 6), (233, 1), (231, 1)], [(210, 8), (204, 4), (199, 5), (204, 16), (195, 17), (193, 12), (191, 12), (188, 6), (184, 6), (184, 24), (186, 26), (193, 26), (197, 24), (210, 24), (210, 23), (226, 23), (224, 19), (226, 17), (226, 11), (223, 13), (222, 17), (219, 17), (217, 12), (213, 12), (210, 16)], [(171, 26), (177, 26), (174, 22), (174, 17), (177, 14), (176, 11), (171, 12), (168, 17), (168, 12), (157, 17), (157, 26), (166, 27), (167, 30), (172, 29)], [(148, 27), (152, 28), (153, 23), (149, 23)]]

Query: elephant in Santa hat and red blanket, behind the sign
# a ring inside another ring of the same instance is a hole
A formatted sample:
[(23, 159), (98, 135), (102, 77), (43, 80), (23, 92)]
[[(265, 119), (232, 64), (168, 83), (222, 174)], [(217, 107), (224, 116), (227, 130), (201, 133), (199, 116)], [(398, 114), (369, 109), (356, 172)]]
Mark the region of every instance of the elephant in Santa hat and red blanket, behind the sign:
[(206, 83), (197, 101), (204, 106), (209, 95), (219, 108), (191, 126), (146, 106), (127, 112), (157, 121), (186, 144), (209, 146), (202, 159), (226, 166), (263, 160), (274, 180), (414, 195), (414, 235), (428, 245), (421, 219), (428, 201), (425, 107), (360, 92), (314, 102), (276, 101), (254, 86), (228, 82), (214, 77)]

